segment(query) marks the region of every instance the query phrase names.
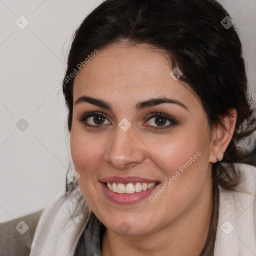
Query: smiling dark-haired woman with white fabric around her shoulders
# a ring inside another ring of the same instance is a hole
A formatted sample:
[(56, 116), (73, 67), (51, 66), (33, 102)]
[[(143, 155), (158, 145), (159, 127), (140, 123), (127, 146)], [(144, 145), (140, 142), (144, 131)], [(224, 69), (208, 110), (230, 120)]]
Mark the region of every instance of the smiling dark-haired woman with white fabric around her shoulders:
[(252, 110), (219, 3), (103, 1), (74, 34), (63, 93), (75, 172), (5, 254), (256, 254), (256, 168), (238, 146)]

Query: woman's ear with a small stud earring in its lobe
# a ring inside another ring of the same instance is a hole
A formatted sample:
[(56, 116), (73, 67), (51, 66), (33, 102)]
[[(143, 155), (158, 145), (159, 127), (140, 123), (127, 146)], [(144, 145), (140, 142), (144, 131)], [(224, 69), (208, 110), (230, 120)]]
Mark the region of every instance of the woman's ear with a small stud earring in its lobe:
[(209, 162), (216, 162), (223, 159), (224, 152), (233, 136), (237, 112), (234, 108), (229, 110), (228, 115), (222, 118), (222, 124), (215, 125), (211, 133), (211, 150)]

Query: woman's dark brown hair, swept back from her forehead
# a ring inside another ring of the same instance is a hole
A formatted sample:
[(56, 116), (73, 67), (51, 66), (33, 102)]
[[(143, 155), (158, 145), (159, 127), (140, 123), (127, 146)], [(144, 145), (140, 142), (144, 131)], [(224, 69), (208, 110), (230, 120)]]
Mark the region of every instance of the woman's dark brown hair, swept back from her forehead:
[[(200, 99), (210, 128), (221, 123), (229, 109), (237, 111), (232, 139), (222, 162), (213, 164), (212, 181), (227, 189), (239, 182), (235, 163), (246, 162), (247, 151), (238, 142), (252, 132), (252, 110), (241, 42), (234, 25), (226, 29), (221, 20), (230, 15), (215, 0), (105, 0), (82, 21), (74, 33), (63, 79), (63, 93), (71, 130), (73, 80), (70, 73), (95, 49), (122, 39), (147, 43), (166, 52), (171, 69), (182, 71)], [(68, 79), (67, 79), (68, 77)], [(66, 179), (66, 192), (77, 183)]]

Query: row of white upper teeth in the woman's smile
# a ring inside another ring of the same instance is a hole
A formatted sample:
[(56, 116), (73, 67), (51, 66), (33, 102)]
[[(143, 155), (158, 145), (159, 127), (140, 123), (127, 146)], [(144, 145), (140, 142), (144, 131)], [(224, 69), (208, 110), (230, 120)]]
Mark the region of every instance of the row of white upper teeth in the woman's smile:
[(126, 185), (122, 184), (122, 183), (110, 183), (110, 182), (107, 182), (106, 183), (106, 186), (108, 187), (108, 189), (112, 192), (115, 192), (115, 193), (127, 193), (127, 194), (133, 194), (135, 192), (141, 192), (142, 190), (145, 191), (151, 187), (153, 187), (155, 185), (155, 182), (153, 183), (140, 183), (140, 182), (137, 182), (135, 185), (133, 185), (132, 183), (128, 183)]

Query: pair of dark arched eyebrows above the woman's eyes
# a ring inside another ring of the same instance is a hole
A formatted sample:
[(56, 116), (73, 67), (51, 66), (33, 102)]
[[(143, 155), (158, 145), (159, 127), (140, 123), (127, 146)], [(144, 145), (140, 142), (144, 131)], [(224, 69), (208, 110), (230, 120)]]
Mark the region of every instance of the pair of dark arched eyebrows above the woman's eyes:
[[(102, 99), (97, 99), (97, 98), (93, 98), (93, 97), (88, 97), (88, 96), (80, 96), (75, 100), (74, 105), (78, 104), (78, 103), (82, 103), (82, 102), (88, 102), (90, 104), (105, 108), (105, 109), (112, 109), (112, 106), (110, 103), (102, 100)], [(176, 100), (176, 99), (172, 99), (172, 98), (167, 98), (167, 97), (159, 97), (159, 98), (149, 98), (143, 101), (139, 101), (136, 105), (135, 105), (135, 109), (137, 111), (146, 108), (146, 107), (150, 107), (150, 106), (155, 106), (155, 105), (159, 105), (162, 103), (170, 103), (170, 104), (176, 104), (179, 105), (181, 107), (183, 107), (184, 109), (188, 110), (188, 108), (181, 103), (180, 101)]]

